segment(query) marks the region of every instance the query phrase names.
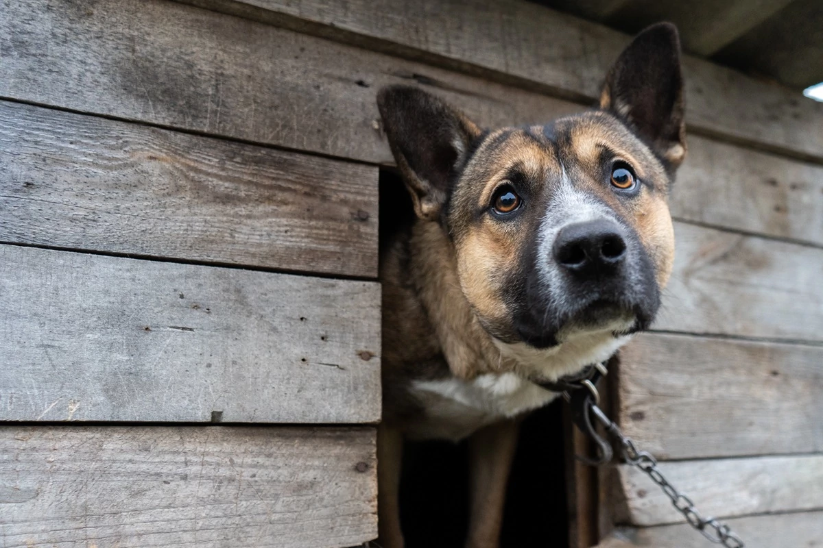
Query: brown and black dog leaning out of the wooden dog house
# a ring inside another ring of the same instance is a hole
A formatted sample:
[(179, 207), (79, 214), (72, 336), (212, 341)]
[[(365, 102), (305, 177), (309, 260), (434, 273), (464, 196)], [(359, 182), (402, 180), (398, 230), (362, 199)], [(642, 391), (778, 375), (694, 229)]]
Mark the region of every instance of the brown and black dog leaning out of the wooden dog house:
[(644, 30), (600, 108), (547, 125), (481, 130), (405, 86), (378, 104), (416, 213), (381, 255), (378, 542), (403, 545), (402, 440), (471, 436), (467, 546), (497, 546), (516, 419), (557, 395), (533, 381), (606, 360), (658, 311), (686, 156), (677, 30)]

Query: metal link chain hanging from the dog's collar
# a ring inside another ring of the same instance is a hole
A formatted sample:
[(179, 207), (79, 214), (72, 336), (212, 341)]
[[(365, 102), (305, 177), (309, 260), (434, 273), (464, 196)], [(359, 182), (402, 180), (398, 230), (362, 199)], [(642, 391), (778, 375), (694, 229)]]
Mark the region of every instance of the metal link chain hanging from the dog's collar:
[(606, 416), (597, 404), (591, 403), (591, 412), (597, 421), (603, 425), (609, 435), (616, 438), (621, 444), (623, 458), (625, 462), (634, 467), (639, 468), (646, 473), (654, 483), (663, 490), (664, 493), (672, 500), (672, 505), (678, 512), (683, 514), (691, 527), (694, 527), (700, 533), (714, 542), (714, 544), (722, 544), (726, 548), (744, 548), (746, 545), (737, 536), (732, 529), (725, 523), (718, 522), (715, 518), (704, 518), (700, 512), (695, 508), (695, 503), (689, 497), (683, 495), (680, 491), (663, 476), (663, 473), (658, 469), (658, 461), (648, 451), (639, 451), (635, 446), (634, 440), (623, 434), (621, 429)]

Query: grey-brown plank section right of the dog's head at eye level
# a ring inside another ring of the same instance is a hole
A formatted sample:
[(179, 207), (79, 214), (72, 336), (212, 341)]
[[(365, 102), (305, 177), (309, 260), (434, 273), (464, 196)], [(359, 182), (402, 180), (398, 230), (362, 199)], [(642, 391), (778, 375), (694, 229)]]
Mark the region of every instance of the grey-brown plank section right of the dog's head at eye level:
[(677, 219), (823, 245), (823, 167), (690, 136)]

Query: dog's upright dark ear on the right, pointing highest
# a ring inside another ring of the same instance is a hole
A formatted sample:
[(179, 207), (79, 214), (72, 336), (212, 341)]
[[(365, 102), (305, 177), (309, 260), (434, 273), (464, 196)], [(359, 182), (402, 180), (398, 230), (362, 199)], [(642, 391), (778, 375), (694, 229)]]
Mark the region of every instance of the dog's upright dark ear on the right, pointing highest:
[(673, 171), (686, 158), (680, 39), (671, 23), (635, 36), (606, 78), (600, 107), (644, 137)]

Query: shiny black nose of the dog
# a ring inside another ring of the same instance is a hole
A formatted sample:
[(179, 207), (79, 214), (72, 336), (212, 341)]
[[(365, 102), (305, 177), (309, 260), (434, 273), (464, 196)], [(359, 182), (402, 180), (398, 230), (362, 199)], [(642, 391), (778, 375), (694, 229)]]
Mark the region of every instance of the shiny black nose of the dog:
[(575, 274), (609, 274), (625, 258), (626, 244), (621, 226), (597, 219), (563, 227), (552, 248), (555, 260)]

